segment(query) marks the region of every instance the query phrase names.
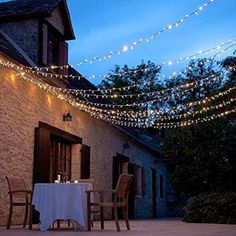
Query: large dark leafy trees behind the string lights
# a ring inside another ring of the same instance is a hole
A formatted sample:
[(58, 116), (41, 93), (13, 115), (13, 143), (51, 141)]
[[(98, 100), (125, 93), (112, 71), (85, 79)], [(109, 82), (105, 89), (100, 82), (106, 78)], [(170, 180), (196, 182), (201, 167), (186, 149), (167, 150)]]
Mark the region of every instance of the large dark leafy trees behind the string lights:
[[(110, 89), (117, 87), (139, 84), (132, 87), (129, 93), (150, 92), (159, 89), (173, 88), (186, 82), (199, 81), (201, 86), (189, 89), (184, 95), (171, 91), (167, 93), (168, 99), (163, 102), (157, 99), (156, 103), (148, 104), (148, 98), (143, 97), (124, 97), (115, 98), (117, 104), (133, 103), (137, 101), (146, 102), (147, 106), (138, 109), (157, 109), (176, 107), (171, 115), (179, 115), (208, 106), (215, 106), (229, 98), (235, 97), (235, 90), (226, 96), (208, 101), (206, 104), (187, 107), (187, 102), (201, 100), (207, 96), (212, 96), (225, 91), (227, 88), (235, 86), (236, 72), (222, 73), (223, 69), (236, 66), (236, 57), (228, 57), (222, 62), (215, 60), (198, 59), (189, 63), (188, 67), (178, 76), (168, 78), (165, 81), (158, 79), (160, 67), (154, 63), (142, 63), (137, 68), (116, 66), (113, 73), (102, 81), (100, 88)], [(202, 84), (200, 81), (212, 75), (218, 75), (216, 80)], [(169, 90), (168, 90), (169, 91)], [(127, 91), (121, 91), (127, 94)], [(227, 107), (218, 107), (217, 110), (210, 110), (190, 119), (202, 119), (204, 116), (210, 116), (214, 112), (220, 113), (227, 109), (235, 108), (235, 102)], [(170, 115), (168, 112), (164, 115)], [(158, 116), (156, 116), (158, 122)], [(185, 121), (189, 117), (183, 117)], [(168, 120), (165, 122), (169, 122)], [(158, 136), (158, 130), (149, 128), (149, 132)], [(180, 127), (178, 129), (164, 130), (164, 139), (162, 150), (164, 156), (169, 162), (169, 168), (172, 172), (172, 185), (177, 193), (184, 193), (188, 196), (197, 195), (201, 192), (214, 191), (233, 191), (236, 192), (236, 158), (235, 158), (235, 140), (236, 140), (236, 122), (235, 116), (216, 119), (211, 122), (203, 122), (189, 127)]]

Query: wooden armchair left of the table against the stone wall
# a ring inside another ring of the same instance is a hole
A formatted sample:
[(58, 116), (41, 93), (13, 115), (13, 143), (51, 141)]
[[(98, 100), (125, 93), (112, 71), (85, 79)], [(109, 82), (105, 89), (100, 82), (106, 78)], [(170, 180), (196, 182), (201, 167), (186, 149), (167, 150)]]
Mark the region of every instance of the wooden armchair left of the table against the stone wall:
[(29, 216), (29, 229), (32, 228), (32, 191), (26, 189), (25, 181), (22, 178), (8, 178), (6, 177), (9, 195), (10, 195), (10, 208), (9, 208), (9, 216), (7, 221), (7, 229), (10, 229), (12, 213), (14, 206), (25, 206), (25, 216), (23, 227), (26, 227), (28, 212), (30, 208), (30, 216)]

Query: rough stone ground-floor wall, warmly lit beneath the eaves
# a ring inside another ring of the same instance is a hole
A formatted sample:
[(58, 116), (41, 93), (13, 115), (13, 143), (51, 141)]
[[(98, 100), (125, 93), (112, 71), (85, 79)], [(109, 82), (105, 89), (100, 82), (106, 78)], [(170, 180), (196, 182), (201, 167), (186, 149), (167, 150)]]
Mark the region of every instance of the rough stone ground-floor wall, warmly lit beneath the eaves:
[[(6, 224), (9, 206), (5, 176), (22, 177), (28, 188), (32, 188), (34, 129), (39, 121), (79, 136), (83, 144), (90, 146), (91, 178), (96, 178), (96, 187), (112, 188), (113, 156), (117, 153), (128, 156), (131, 163), (145, 167), (145, 195), (135, 198), (135, 217), (152, 217), (151, 168), (158, 173), (165, 167), (156, 164), (155, 157), (139, 143), (128, 139), (130, 147), (124, 149), (127, 136), (120, 130), (69, 106), (2, 66), (0, 101), (0, 225)], [(63, 122), (66, 110), (73, 116), (72, 122)], [(79, 165), (78, 150), (77, 146), (72, 157), (74, 165)], [(79, 175), (73, 171), (73, 166), (72, 172), (74, 177)], [(21, 211), (14, 212), (14, 223), (22, 221), (21, 214)]]

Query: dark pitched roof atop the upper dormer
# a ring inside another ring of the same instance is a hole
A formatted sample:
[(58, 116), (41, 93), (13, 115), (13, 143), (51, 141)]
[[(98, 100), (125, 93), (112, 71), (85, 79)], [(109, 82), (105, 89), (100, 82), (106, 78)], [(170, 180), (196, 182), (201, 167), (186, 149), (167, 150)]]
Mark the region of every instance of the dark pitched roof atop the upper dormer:
[(56, 7), (63, 14), (66, 39), (75, 39), (66, 0), (13, 0), (0, 3), (0, 22), (50, 17)]

